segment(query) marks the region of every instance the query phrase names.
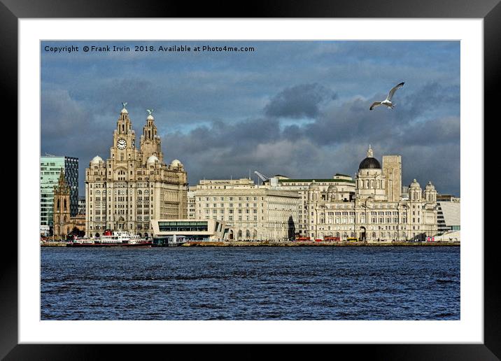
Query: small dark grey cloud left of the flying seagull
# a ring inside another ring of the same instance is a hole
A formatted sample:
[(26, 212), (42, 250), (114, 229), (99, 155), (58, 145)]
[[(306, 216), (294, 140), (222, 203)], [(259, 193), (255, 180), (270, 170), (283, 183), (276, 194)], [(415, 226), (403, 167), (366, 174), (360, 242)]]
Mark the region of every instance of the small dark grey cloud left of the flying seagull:
[(264, 107), (264, 113), (271, 117), (315, 118), (320, 104), (332, 99), (336, 99), (336, 94), (323, 85), (296, 85), (276, 94)]

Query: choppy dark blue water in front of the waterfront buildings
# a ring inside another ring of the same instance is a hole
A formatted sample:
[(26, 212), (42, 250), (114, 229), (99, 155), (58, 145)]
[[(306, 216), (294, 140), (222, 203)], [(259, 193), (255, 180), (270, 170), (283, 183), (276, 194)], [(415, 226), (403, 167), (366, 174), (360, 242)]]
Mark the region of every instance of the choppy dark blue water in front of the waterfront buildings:
[(459, 247), (41, 248), (42, 320), (459, 320)]

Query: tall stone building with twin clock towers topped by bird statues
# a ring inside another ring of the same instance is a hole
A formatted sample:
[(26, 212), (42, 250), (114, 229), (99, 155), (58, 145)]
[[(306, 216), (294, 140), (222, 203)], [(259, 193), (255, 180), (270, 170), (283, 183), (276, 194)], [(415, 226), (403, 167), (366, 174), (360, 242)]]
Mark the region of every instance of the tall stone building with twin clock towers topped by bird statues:
[(148, 110), (139, 150), (123, 104), (113, 132), (110, 157), (96, 156), (85, 170), (87, 236), (105, 229), (152, 235), (153, 218), (187, 218), (188, 178), (183, 164), (163, 161), (155, 118)]

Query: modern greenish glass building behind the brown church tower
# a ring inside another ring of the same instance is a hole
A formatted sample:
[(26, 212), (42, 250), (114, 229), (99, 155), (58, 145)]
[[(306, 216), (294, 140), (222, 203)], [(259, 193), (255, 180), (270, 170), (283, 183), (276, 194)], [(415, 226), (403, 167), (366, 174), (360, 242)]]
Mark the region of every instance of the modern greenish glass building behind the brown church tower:
[[(57, 185), (61, 169), (64, 180), (69, 185), (69, 215), (78, 213), (78, 158), (43, 155), (40, 157), (40, 225), (53, 227), (54, 187)], [(46, 227), (43, 227), (46, 229)], [(50, 233), (51, 231), (49, 231)]]

